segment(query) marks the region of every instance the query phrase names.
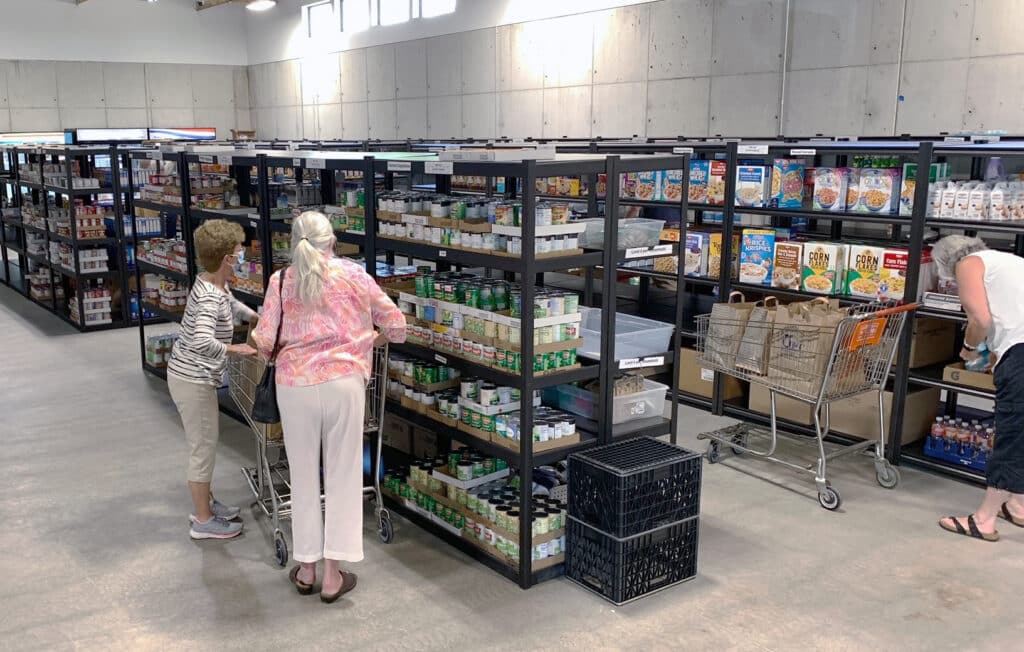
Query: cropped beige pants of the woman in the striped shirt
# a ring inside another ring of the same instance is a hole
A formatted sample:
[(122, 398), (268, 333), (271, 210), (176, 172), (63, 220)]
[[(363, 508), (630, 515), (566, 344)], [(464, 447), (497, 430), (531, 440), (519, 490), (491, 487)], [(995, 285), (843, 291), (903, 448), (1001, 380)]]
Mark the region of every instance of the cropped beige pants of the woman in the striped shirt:
[(181, 415), (188, 444), (188, 481), (210, 482), (220, 438), (220, 412), (217, 388), (189, 383), (173, 374), (167, 375), (167, 388)]

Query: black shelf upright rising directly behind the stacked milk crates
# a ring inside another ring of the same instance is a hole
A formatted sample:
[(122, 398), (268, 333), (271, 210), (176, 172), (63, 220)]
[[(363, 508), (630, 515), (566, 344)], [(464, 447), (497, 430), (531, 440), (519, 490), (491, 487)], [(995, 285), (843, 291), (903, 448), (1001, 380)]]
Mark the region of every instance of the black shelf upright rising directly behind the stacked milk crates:
[(604, 271), (601, 275), (601, 359), (600, 410), (597, 418), (598, 442), (611, 443), (612, 397), (614, 396), (615, 313), (618, 308), (615, 284), (618, 280), (618, 161), (617, 156), (605, 159), (607, 192), (604, 205)]

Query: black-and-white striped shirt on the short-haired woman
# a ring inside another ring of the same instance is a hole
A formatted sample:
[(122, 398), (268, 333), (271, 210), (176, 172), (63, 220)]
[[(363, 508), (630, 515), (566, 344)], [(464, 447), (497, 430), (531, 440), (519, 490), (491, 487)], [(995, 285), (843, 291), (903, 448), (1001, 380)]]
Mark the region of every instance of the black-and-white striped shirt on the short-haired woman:
[(256, 313), (219, 288), (196, 278), (181, 318), (178, 339), (171, 350), (167, 373), (188, 383), (220, 387), (224, 355), (234, 334), (234, 316), (251, 318)]

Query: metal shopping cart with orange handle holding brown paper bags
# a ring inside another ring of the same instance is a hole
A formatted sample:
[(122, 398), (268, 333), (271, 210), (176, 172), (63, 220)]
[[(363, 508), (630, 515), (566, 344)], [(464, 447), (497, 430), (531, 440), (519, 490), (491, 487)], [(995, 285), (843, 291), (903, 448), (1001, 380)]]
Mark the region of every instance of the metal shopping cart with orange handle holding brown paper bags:
[[(771, 396), (769, 431), (739, 424), (698, 435), (698, 438), (710, 440), (708, 461), (711, 464), (719, 462), (722, 446), (727, 446), (733, 454), (751, 453), (809, 472), (814, 476), (818, 503), (826, 510), (837, 510), (842, 498), (828, 481), (827, 463), (871, 448), (879, 484), (890, 489), (896, 487), (900, 480), (899, 470), (885, 457), (882, 391), (906, 314), (914, 308), (916, 304), (870, 303), (849, 309), (846, 316), (837, 317), (838, 322), (830, 325), (776, 324), (769, 320), (730, 319), (714, 313), (697, 316), (697, 357), (701, 367), (764, 385)], [(869, 439), (826, 453), (824, 440), (829, 428), (829, 403), (870, 391), (878, 394), (878, 441)], [(778, 430), (776, 395), (813, 407), (816, 463), (802, 465), (776, 457), (779, 435), (795, 438)], [(768, 439), (766, 449), (758, 450), (750, 445), (750, 440), (759, 434)]]

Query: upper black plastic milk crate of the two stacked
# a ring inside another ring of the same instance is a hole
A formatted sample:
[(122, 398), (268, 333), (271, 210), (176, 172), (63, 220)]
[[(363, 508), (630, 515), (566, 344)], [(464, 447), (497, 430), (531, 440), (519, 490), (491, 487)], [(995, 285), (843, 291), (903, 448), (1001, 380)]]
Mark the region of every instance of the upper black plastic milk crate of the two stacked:
[(700, 513), (700, 454), (638, 437), (569, 455), (568, 513), (630, 536)]

